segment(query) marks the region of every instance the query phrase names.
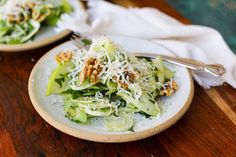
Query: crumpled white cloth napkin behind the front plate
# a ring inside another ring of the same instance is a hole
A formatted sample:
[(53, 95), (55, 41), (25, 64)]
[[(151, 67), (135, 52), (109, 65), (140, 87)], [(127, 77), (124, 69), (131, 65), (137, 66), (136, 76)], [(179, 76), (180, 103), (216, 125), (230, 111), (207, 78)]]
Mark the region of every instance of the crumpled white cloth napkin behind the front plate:
[[(154, 8), (123, 8), (105, 1), (89, 1), (88, 6), (87, 30), (80, 29), (79, 25), (68, 27), (69, 29), (82, 35), (142, 38), (165, 47), (179, 57), (223, 64), (227, 73), (222, 77), (192, 72), (193, 77), (205, 88), (221, 85), (223, 82), (236, 88), (236, 56), (216, 30), (204, 26), (183, 25)], [(71, 18), (76, 21), (74, 17)], [(58, 27), (66, 29), (67, 27), (62, 26), (68, 19), (69, 17), (61, 21)]]

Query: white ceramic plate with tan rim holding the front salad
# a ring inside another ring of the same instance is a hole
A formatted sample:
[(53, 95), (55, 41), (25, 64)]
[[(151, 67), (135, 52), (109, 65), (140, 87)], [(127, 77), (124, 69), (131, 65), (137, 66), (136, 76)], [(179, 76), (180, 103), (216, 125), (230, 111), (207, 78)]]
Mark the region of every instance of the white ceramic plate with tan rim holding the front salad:
[[(123, 46), (129, 52), (169, 52), (146, 40), (111, 36), (113, 41)], [(164, 112), (152, 119), (143, 116), (135, 117), (135, 132), (109, 132), (102, 125), (102, 119), (94, 119), (90, 124), (78, 124), (64, 116), (62, 97), (58, 95), (45, 96), (47, 82), (52, 70), (57, 66), (54, 57), (63, 49), (76, 48), (66, 42), (45, 54), (31, 72), (28, 84), (30, 99), (40, 116), (55, 128), (69, 135), (98, 142), (127, 142), (143, 139), (157, 134), (173, 125), (187, 111), (193, 97), (193, 81), (186, 68), (166, 64), (176, 71), (175, 81), (179, 89), (171, 97), (162, 98)]]

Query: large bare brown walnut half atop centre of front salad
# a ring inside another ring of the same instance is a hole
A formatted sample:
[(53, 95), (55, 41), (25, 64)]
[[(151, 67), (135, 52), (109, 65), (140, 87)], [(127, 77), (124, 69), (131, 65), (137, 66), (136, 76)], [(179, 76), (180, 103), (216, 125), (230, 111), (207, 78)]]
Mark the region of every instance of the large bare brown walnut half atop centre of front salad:
[(85, 61), (85, 65), (82, 69), (82, 72), (79, 75), (80, 84), (82, 84), (87, 78), (92, 83), (98, 81), (98, 75), (102, 72), (102, 63), (100, 60), (95, 58), (88, 58)]

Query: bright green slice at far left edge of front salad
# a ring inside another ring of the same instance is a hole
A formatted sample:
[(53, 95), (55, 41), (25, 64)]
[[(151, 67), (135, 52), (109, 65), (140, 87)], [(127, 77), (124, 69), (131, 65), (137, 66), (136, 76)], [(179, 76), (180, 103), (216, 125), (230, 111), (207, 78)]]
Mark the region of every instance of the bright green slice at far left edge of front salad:
[(51, 74), (49, 81), (48, 81), (48, 87), (46, 90), (46, 95), (51, 94), (60, 94), (63, 91), (68, 89), (68, 82), (70, 81), (70, 78), (65, 76), (70, 69), (74, 68), (74, 64), (72, 62), (64, 62), (63, 64), (60, 64)]

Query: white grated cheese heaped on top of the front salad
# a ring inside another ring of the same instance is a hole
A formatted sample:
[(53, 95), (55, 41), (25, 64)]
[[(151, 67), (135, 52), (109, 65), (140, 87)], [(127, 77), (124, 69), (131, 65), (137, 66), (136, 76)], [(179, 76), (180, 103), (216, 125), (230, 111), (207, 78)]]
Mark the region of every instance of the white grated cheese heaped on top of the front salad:
[[(109, 54), (103, 45), (106, 43), (111, 43), (115, 47), (114, 59), (109, 57)], [(106, 83), (108, 80), (113, 80), (118, 83), (118, 92), (123, 91), (135, 99), (139, 99), (142, 95), (142, 91), (146, 91), (151, 95), (153, 83), (151, 82), (153, 67), (150, 63), (146, 61), (139, 61), (136, 57), (128, 57), (127, 52), (124, 51), (118, 45), (115, 45), (109, 41), (106, 37), (100, 37), (93, 39), (93, 42), (88, 50), (80, 49), (74, 51), (72, 62), (75, 68), (68, 75), (71, 80), (69, 85), (73, 88), (77, 86), (78, 75), (82, 68), (85, 66), (85, 61), (87, 58), (93, 57), (95, 59), (101, 60), (103, 63), (103, 68), (99, 74), (100, 82)], [(134, 68), (135, 67), (135, 68)], [(131, 83), (129, 77), (125, 75), (125, 71), (132, 73), (138, 72), (141, 77), (137, 82)], [(128, 85), (128, 88), (133, 92), (123, 89), (120, 83)], [(96, 98), (100, 98), (100, 93), (96, 93)]]

